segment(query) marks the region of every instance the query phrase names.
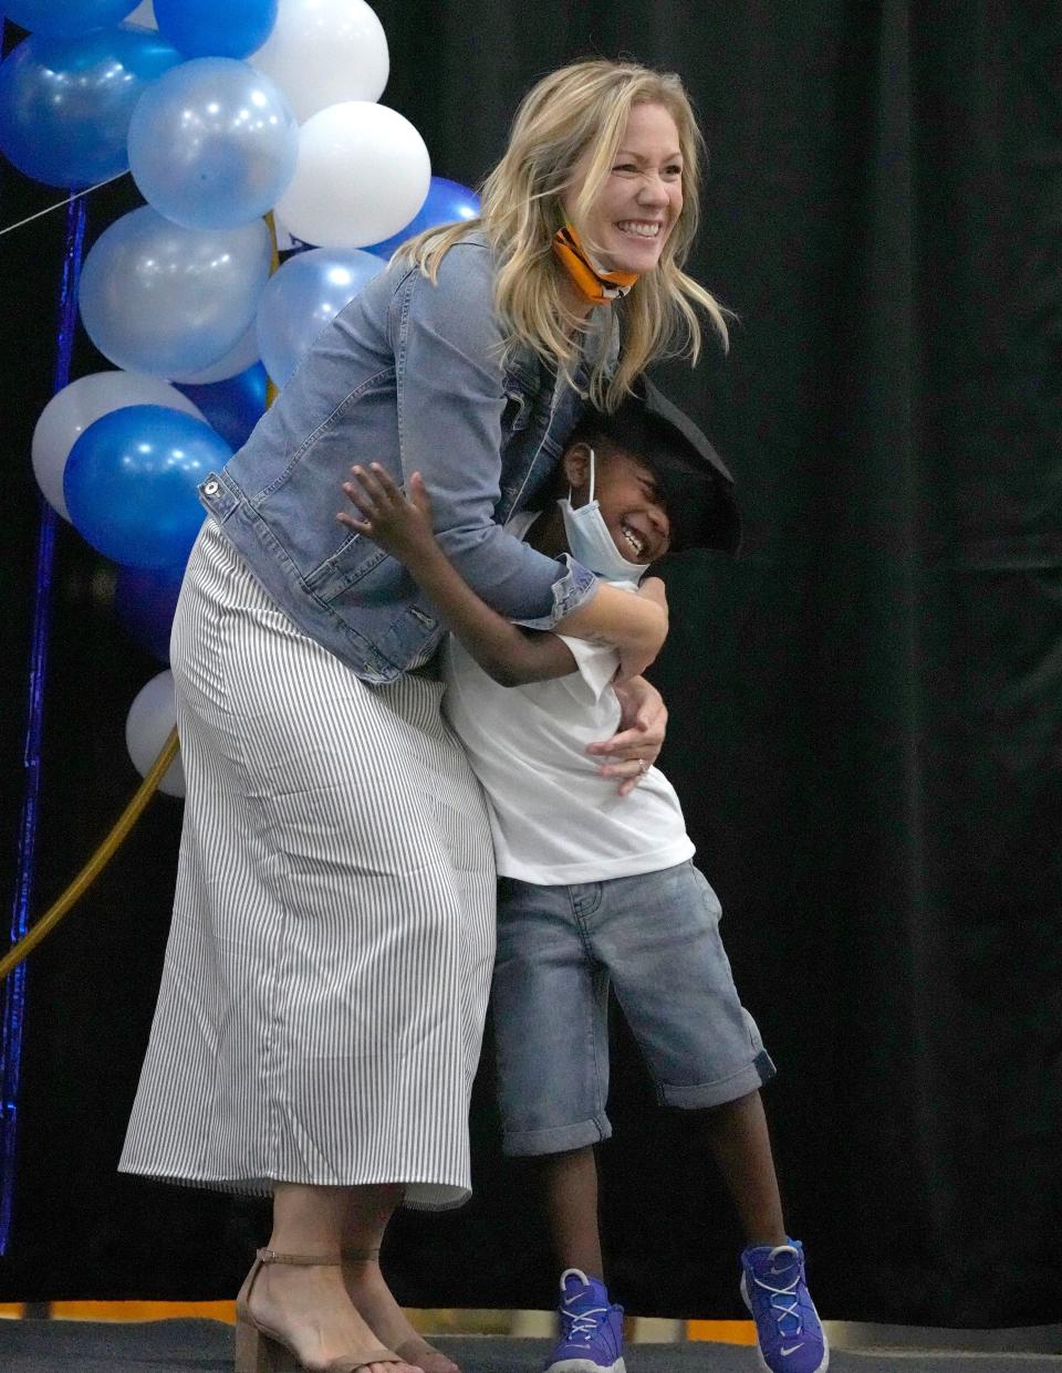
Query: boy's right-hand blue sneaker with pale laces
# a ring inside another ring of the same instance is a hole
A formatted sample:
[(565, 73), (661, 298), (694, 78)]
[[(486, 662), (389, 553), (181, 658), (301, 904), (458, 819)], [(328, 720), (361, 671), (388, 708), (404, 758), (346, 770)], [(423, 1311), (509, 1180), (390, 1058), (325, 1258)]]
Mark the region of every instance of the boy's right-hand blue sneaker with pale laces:
[(824, 1373), (830, 1347), (804, 1280), (800, 1240), (758, 1244), (741, 1263), (741, 1295), (756, 1322), (762, 1366), (769, 1373)]

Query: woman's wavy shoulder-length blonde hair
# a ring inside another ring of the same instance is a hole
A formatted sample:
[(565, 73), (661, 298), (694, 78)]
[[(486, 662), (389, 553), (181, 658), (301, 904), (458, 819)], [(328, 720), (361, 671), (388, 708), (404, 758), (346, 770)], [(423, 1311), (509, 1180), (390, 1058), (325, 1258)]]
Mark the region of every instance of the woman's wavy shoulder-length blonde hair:
[[(615, 372), (609, 372), (606, 358), (591, 372), (589, 398), (607, 411), (629, 394), (650, 362), (673, 356), (697, 361), (695, 305), (727, 345), (723, 309), (683, 272), (699, 218), (703, 140), (677, 76), (633, 62), (592, 59), (544, 77), (525, 96), (506, 155), (482, 185), (479, 218), (427, 229), (401, 249), (434, 281), (449, 249), (467, 233), (482, 232), (499, 255), (495, 305), (508, 330), (508, 350), (528, 345), (572, 379), (585, 321), (566, 301), (563, 268), (552, 251), (554, 235), (566, 220), (561, 198), (577, 172), (585, 170), (573, 214), (580, 231), (611, 172), (632, 107), (648, 103), (664, 106), (679, 130), (683, 209), (655, 269), (640, 276), (624, 299), (624, 347)], [(592, 253), (584, 231), (581, 236)]]

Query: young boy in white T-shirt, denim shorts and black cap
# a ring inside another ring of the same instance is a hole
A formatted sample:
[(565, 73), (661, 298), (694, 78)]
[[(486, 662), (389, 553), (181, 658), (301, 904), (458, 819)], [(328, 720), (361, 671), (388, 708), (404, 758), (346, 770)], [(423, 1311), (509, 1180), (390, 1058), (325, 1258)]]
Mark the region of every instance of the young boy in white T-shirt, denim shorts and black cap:
[[(339, 518), (398, 557), (449, 623), (445, 711), (489, 800), (504, 1148), (541, 1157), (563, 1266), (562, 1339), (547, 1373), (624, 1373), (622, 1310), (602, 1278), (594, 1156), (611, 1133), (610, 984), (661, 1100), (705, 1112), (747, 1236), (741, 1288), (760, 1362), (822, 1373), (826, 1337), (801, 1245), (786, 1236), (760, 1101), (775, 1068), (738, 1000), (719, 901), (690, 861), (666, 778), (643, 761), (639, 785), (620, 795), (587, 755), (620, 721), (615, 652), (503, 619), (436, 544), (418, 475), (407, 500), (381, 468), (353, 472), (357, 485), (345, 490), (363, 518)], [(725, 468), (655, 389), (615, 415), (584, 419), (558, 475), (566, 496), (515, 515), (510, 531), (631, 590), (666, 552), (734, 541)], [(659, 595), (653, 582), (643, 595)]]

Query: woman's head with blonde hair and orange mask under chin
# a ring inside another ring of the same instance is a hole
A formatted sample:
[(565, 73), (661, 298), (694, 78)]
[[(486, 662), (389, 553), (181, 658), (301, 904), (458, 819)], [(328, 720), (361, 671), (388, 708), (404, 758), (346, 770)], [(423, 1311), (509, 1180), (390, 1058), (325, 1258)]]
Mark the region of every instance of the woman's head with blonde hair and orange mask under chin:
[[(591, 401), (614, 411), (661, 356), (698, 360), (699, 312), (727, 343), (725, 310), (684, 270), (699, 221), (703, 152), (673, 73), (605, 59), (562, 67), (517, 111), (508, 150), (484, 183), (481, 218), (420, 235), (409, 255), (434, 280), (453, 244), (468, 232), (486, 233), (499, 251), (495, 305), (507, 347), (551, 357), (569, 378), (588, 362)], [(651, 251), (643, 253), (642, 235), (651, 238)], [(609, 262), (595, 264), (595, 244)], [(559, 275), (558, 258), (566, 268)], [(609, 270), (613, 258), (632, 265)], [(587, 357), (588, 310), (621, 297), (618, 361)]]

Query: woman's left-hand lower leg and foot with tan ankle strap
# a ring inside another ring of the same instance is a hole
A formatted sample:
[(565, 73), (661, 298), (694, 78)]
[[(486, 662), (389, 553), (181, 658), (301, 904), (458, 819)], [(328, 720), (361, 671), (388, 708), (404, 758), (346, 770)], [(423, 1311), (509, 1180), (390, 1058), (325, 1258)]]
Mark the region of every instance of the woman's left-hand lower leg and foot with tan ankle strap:
[[(279, 1182), (273, 1192), (269, 1248), (316, 1256), (323, 1266), (268, 1263), (250, 1295), (254, 1318), (283, 1336), (306, 1368), (379, 1347), (381, 1339), (352, 1304), (339, 1267), (343, 1222), (354, 1192), (382, 1188), (326, 1188)], [(367, 1363), (371, 1373), (414, 1373), (409, 1363)]]

